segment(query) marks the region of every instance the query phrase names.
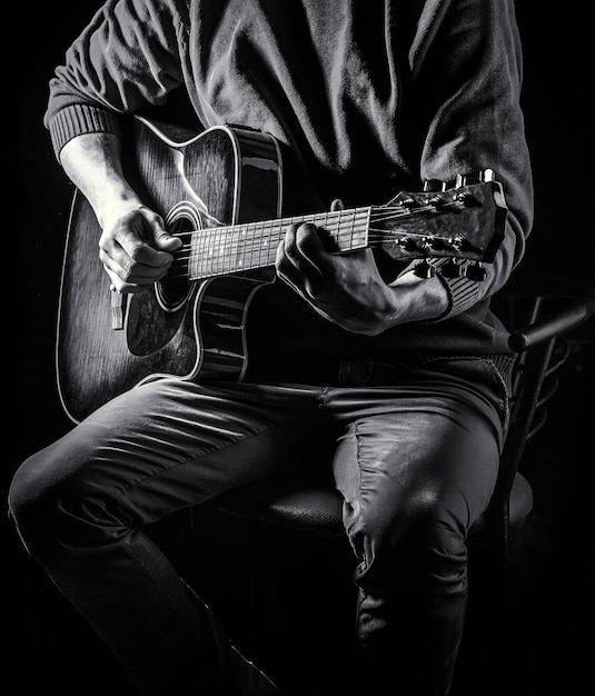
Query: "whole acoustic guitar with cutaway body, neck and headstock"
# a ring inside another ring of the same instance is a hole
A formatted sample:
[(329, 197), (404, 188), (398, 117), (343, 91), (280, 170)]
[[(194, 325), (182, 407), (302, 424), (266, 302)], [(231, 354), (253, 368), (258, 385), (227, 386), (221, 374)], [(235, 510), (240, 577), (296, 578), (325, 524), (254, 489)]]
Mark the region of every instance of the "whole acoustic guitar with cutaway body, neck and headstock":
[(75, 192), (56, 357), (60, 399), (75, 422), (163, 376), (241, 380), (250, 300), (274, 280), (277, 246), (291, 222), (316, 225), (331, 252), (383, 247), (397, 259), (447, 257), (445, 274), (478, 278), (482, 268), (460, 260), (489, 262), (504, 235), (506, 206), (490, 170), (454, 186), (430, 181), (384, 206), (284, 218), (282, 160), (270, 135), (131, 121), (127, 175), (182, 246), (151, 290), (113, 292), (98, 260), (98, 221)]

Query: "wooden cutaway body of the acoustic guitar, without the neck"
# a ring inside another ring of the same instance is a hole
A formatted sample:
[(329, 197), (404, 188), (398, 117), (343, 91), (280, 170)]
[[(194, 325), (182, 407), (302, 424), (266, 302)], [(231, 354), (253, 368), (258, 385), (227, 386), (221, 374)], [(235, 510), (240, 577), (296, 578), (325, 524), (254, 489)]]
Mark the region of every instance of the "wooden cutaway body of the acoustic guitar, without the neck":
[[(127, 176), (171, 233), (278, 218), (277, 142), (250, 130), (200, 135), (132, 119)], [(140, 295), (117, 295), (98, 259), (101, 230), (79, 192), (70, 213), (60, 291), (57, 374), (68, 416), (79, 422), (131, 387), (163, 376), (240, 380), (246, 315), (272, 272), (207, 280), (166, 279)], [(119, 305), (121, 302), (121, 305)]]

